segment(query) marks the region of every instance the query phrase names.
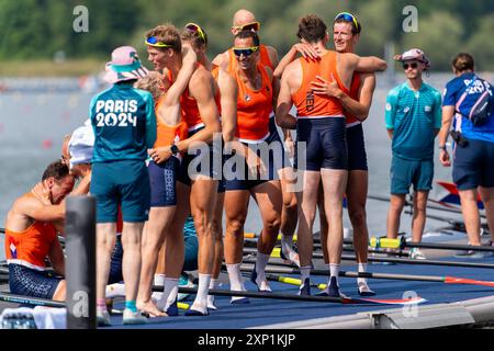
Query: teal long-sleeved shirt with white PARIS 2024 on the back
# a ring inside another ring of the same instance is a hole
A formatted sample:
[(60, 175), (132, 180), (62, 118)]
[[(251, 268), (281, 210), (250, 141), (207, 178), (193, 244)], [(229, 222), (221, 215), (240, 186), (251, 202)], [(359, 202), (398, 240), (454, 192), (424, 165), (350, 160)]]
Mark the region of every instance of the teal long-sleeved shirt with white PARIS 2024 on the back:
[(145, 160), (156, 140), (153, 95), (130, 83), (97, 94), (89, 109), (94, 131), (92, 162)]

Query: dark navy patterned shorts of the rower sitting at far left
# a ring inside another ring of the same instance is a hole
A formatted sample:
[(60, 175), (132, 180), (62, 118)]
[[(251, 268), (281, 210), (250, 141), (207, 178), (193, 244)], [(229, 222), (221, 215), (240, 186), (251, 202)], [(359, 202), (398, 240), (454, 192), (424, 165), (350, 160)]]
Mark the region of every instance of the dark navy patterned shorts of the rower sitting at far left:
[(61, 278), (20, 264), (9, 264), (9, 288), (12, 294), (52, 299)]

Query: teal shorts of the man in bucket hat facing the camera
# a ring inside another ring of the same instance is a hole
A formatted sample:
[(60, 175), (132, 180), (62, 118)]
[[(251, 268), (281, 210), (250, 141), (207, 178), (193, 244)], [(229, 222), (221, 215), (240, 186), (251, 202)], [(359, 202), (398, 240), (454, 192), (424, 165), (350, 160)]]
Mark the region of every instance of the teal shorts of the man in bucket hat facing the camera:
[(414, 191), (433, 189), (434, 160), (406, 160), (393, 155), (391, 160), (391, 193), (408, 194)]

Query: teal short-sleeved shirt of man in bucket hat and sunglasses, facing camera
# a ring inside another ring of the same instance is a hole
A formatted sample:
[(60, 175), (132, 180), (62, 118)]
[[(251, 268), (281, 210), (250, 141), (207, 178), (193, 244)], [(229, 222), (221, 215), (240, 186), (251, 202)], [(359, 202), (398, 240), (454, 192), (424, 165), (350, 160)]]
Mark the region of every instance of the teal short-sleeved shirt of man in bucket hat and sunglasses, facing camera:
[(426, 83), (418, 91), (408, 82), (395, 87), (386, 97), (385, 124), (394, 129), (393, 155), (409, 160), (434, 158), (434, 139), (441, 127), (441, 93)]

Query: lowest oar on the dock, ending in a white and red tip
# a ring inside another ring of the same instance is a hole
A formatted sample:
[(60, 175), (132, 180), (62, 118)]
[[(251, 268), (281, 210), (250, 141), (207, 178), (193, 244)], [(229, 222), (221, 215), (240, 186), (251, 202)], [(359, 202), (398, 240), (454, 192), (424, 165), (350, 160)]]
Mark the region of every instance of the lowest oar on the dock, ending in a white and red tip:
[[(162, 291), (162, 286), (153, 286), (153, 291)], [(198, 290), (194, 287), (179, 287), (179, 293), (197, 294)], [(350, 298), (350, 297), (330, 297), (330, 296), (299, 296), (294, 294), (279, 294), (268, 292), (237, 292), (228, 290), (210, 290), (210, 295), (215, 296), (243, 296), (251, 298), (271, 298), (271, 299), (287, 299), (300, 302), (319, 302), (319, 303), (336, 303), (344, 305), (356, 304), (374, 304), (374, 305), (409, 305), (420, 304), (426, 299), (417, 296), (414, 298), (398, 298), (398, 299), (379, 299), (379, 298)]]

